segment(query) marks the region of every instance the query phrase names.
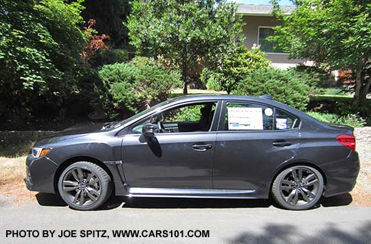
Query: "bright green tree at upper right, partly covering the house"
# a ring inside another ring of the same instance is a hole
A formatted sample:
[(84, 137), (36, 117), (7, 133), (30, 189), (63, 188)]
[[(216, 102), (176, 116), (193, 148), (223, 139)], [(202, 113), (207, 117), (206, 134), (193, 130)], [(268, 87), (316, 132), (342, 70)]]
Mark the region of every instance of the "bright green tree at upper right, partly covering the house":
[(371, 86), (371, 3), (362, 0), (300, 0), (284, 16), (272, 38), (292, 58), (308, 58), (329, 69), (352, 69), (355, 103), (365, 99)]

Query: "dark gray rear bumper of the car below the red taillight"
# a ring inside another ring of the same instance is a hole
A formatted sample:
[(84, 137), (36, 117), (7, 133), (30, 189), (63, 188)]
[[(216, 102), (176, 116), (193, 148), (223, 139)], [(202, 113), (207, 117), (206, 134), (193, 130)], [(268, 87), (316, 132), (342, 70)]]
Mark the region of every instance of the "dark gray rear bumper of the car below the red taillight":
[(355, 187), (359, 173), (359, 157), (356, 151), (351, 151), (343, 160), (330, 162), (319, 166), (326, 175), (325, 197), (348, 193)]

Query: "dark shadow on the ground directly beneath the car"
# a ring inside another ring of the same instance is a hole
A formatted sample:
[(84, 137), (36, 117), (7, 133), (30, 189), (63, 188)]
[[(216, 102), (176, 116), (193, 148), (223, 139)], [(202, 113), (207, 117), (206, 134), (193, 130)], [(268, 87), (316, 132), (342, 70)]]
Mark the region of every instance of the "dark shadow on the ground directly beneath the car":
[[(63, 199), (56, 194), (36, 194), (41, 206), (67, 206)], [(323, 207), (346, 206), (352, 202), (349, 193), (335, 197), (322, 197), (319, 202)], [(99, 210), (113, 208), (280, 208), (271, 199), (197, 199), (197, 198), (168, 198), (168, 197), (115, 197), (112, 196)]]

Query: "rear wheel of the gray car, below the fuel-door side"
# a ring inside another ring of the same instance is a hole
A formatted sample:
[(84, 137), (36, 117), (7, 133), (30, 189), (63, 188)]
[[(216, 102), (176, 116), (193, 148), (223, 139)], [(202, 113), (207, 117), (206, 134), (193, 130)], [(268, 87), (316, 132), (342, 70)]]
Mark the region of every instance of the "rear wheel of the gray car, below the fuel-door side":
[(324, 178), (317, 169), (294, 166), (277, 175), (272, 195), (283, 208), (305, 210), (317, 204), (324, 191)]

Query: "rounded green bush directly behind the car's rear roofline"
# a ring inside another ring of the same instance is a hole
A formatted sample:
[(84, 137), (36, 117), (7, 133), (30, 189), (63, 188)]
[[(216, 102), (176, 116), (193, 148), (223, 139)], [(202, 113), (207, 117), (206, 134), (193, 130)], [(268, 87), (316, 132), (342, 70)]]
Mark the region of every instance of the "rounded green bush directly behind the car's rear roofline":
[(273, 99), (299, 110), (308, 104), (307, 84), (291, 71), (267, 67), (256, 69), (232, 91), (236, 95), (273, 95)]

